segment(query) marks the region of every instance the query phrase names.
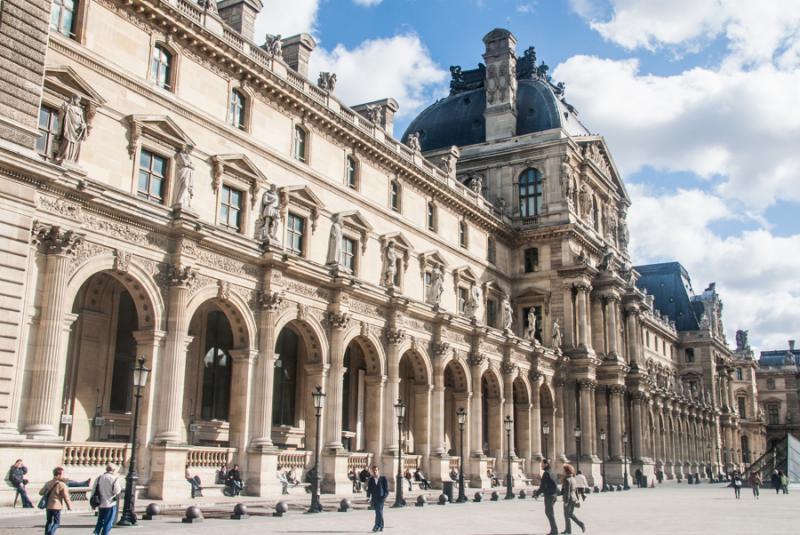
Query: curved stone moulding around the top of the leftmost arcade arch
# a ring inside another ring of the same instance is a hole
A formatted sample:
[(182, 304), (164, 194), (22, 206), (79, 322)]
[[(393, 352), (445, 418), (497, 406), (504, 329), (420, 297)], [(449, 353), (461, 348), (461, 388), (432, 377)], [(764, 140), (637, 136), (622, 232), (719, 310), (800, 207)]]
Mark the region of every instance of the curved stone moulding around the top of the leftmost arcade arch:
[(108, 253), (94, 256), (78, 266), (67, 283), (65, 309), (71, 309), (84, 283), (99, 273), (106, 273), (119, 281), (134, 298), (141, 330), (164, 330), (166, 307), (152, 275), (139, 265), (135, 257), (130, 259), (125, 271), (115, 269), (116, 265), (117, 257)]

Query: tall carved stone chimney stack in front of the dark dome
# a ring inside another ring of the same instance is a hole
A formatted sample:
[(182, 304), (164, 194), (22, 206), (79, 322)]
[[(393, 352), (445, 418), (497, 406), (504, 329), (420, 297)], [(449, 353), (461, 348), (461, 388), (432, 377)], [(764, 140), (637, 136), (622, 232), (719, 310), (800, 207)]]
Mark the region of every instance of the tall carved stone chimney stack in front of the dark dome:
[(517, 135), (517, 40), (508, 30), (494, 29), (483, 42), (486, 53), (486, 141)]

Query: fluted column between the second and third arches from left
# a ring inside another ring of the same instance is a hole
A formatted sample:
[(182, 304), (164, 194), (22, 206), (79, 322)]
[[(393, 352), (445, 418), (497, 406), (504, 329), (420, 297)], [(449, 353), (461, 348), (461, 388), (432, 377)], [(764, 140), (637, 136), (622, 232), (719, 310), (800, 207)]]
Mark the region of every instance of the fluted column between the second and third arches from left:
[(272, 389), (275, 386), (275, 320), (283, 297), (278, 293), (261, 294), (259, 317), (259, 358), (255, 370), (253, 396), (253, 440), (255, 448), (272, 446)]

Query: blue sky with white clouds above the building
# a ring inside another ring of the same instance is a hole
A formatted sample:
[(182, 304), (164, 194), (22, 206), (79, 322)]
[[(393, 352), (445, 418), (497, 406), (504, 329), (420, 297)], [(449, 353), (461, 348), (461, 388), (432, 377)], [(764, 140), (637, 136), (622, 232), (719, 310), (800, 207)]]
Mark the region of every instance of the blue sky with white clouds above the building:
[(348, 104), (392, 96), (395, 135), (481, 61), (535, 46), (633, 197), (635, 263), (715, 281), (729, 340), (800, 339), (800, 1), (265, 0), (257, 35), (309, 32)]

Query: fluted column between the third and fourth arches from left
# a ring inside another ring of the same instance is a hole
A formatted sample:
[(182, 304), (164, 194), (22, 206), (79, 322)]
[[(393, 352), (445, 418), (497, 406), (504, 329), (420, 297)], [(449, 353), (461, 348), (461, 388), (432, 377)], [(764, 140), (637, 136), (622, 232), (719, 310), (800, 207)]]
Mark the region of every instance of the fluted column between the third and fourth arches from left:
[(325, 448), (341, 450), (342, 446), (342, 403), (344, 383), (344, 331), (350, 323), (347, 314), (328, 312), (328, 338), (330, 348), (330, 371), (326, 404), (330, 410), (325, 411), (327, 428)]

